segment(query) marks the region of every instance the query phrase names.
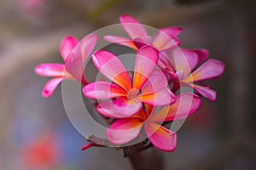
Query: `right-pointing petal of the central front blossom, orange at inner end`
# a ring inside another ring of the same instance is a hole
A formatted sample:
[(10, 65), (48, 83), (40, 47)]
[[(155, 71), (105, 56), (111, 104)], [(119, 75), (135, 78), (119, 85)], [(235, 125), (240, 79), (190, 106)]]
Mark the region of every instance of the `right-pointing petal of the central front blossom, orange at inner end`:
[(141, 94), (137, 99), (148, 105), (161, 106), (172, 104), (176, 97), (169, 88), (161, 88), (152, 94)]

